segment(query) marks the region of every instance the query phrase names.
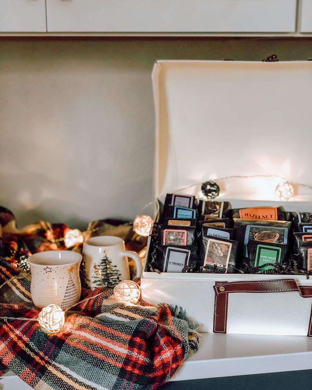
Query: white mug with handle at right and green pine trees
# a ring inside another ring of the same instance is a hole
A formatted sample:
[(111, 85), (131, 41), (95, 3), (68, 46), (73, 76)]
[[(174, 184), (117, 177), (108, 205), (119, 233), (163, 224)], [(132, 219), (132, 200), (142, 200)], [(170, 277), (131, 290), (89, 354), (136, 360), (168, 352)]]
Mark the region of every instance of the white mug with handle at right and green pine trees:
[(119, 237), (99, 236), (83, 244), (83, 281), (91, 289), (106, 286), (113, 288), (122, 280), (129, 280), (128, 257), (135, 261), (137, 277), (142, 273), (142, 261), (136, 252), (125, 250)]

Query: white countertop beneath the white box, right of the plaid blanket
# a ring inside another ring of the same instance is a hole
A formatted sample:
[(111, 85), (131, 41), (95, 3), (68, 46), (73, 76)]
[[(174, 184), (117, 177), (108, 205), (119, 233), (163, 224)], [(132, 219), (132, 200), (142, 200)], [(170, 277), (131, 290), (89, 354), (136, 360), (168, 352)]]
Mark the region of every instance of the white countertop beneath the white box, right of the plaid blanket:
[(312, 339), (203, 333), (170, 381), (312, 369)]

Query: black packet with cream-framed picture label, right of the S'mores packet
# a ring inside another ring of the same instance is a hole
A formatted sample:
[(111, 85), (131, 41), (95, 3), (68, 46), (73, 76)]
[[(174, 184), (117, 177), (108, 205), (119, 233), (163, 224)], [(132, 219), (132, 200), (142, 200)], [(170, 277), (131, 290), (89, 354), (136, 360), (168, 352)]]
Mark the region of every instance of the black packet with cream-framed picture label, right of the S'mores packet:
[(200, 240), (200, 270), (205, 268), (225, 269), (234, 273), (236, 269), (238, 242), (202, 236)]

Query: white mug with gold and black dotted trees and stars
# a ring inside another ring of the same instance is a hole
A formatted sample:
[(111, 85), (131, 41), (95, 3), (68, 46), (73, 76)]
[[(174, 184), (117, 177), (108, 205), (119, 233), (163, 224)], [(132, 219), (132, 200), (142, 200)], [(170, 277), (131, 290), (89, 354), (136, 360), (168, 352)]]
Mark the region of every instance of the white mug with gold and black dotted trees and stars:
[(32, 274), (30, 293), (37, 307), (55, 303), (64, 310), (79, 301), (82, 255), (69, 250), (50, 250), (35, 253), (27, 260)]

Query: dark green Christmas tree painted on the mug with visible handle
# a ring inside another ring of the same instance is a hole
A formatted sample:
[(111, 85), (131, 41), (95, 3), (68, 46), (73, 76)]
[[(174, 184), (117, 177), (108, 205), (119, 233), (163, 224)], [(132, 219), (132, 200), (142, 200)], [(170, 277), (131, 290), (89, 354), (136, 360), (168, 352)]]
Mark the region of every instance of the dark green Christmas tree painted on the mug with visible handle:
[(116, 284), (121, 282), (121, 273), (117, 266), (112, 264), (112, 261), (104, 252), (104, 257), (99, 264), (94, 266), (93, 282), (97, 287), (108, 287), (112, 289)]

